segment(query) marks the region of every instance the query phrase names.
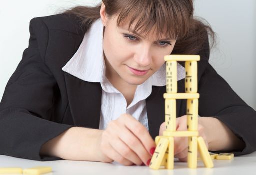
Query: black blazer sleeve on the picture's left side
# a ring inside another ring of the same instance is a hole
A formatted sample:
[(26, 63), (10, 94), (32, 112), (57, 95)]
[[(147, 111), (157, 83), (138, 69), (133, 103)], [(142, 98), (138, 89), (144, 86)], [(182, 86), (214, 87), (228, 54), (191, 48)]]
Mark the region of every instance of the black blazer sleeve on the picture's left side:
[[(34, 18), (29, 30), (29, 46), (9, 79), (0, 103), (0, 154), (41, 161), (57, 160), (60, 158), (41, 156), (40, 148), (72, 126), (50, 121), (57, 83), (43, 57), (47, 26), (41, 19)], [(38, 42), (38, 34), (45, 40)]]

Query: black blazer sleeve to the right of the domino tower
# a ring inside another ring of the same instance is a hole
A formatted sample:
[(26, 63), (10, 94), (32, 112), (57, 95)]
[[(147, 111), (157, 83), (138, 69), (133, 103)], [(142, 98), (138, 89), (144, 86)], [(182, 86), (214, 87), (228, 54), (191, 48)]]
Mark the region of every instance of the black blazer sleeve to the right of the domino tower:
[(230, 152), (235, 155), (254, 152), (256, 150), (256, 111), (248, 106), (206, 61), (209, 57), (208, 44), (206, 46), (201, 52), (200, 68), (204, 71), (198, 82), (199, 115), (219, 119), (244, 141), (245, 147), (242, 150), (230, 150)]

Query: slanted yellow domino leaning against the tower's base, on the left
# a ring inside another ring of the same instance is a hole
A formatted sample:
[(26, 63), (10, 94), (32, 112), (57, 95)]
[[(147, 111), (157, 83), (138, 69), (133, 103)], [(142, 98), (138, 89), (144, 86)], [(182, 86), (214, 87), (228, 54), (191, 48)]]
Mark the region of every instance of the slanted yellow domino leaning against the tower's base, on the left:
[(156, 146), (154, 154), (152, 156), (149, 167), (152, 169), (159, 169), (162, 160), (164, 158), (166, 149), (168, 147), (169, 140), (168, 138), (160, 138), (159, 143)]

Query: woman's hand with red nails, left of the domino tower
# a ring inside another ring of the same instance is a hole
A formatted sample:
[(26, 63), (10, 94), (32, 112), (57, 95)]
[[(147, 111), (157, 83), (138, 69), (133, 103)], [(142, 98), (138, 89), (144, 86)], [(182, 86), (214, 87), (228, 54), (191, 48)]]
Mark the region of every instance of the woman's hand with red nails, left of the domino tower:
[(149, 165), (156, 147), (148, 130), (129, 114), (110, 121), (98, 143), (100, 161), (123, 165)]

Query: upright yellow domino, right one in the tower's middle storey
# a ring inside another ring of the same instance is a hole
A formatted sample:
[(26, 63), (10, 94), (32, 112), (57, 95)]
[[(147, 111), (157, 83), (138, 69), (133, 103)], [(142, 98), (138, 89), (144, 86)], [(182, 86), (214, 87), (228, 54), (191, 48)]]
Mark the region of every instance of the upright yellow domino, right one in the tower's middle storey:
[(187, 130), (198, 130), (198, 99), (187, 99)]

